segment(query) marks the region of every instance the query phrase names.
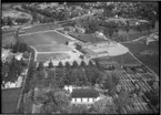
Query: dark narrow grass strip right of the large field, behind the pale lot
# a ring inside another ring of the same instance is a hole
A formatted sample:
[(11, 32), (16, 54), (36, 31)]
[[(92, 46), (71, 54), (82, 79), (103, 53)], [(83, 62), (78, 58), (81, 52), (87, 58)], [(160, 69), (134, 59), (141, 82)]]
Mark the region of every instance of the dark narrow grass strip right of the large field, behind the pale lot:
[(79, 33), (68, 33), (68, 34), (82, 42), (98, 43), (98, 42), (107, 41), (104, 39), (97, 38), (95, 35), (92, 34), (79, 34)]

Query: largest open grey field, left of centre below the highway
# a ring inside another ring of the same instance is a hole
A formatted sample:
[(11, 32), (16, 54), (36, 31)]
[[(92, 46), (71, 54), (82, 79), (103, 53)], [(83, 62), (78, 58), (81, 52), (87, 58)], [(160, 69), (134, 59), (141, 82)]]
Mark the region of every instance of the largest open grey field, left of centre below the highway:
[(27, 44), (29, 45), (40, 45), (40, 44), (53, 44), (53, 43), (66, 43), (66, 41), (70, 41), (70, 39), (54, 32), (40, 32), (40, 33), (33, 33), (28, 35), (20, 36)]

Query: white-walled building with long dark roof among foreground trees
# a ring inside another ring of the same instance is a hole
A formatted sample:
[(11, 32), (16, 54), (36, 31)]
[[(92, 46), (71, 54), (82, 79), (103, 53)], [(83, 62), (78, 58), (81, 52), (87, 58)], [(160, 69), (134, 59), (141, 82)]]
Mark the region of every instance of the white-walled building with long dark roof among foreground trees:
[(93, 104), (100, 100), (100, 95), (94, 88), (64, 86), (71, 94), (71, 104)]

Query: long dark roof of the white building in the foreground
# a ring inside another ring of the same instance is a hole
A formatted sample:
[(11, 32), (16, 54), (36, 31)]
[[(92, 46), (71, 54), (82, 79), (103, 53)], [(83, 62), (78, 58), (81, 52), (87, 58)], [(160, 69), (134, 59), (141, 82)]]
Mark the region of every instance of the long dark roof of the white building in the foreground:
[(71, 97), (98, 97), (99, 93), (94, 88), (73, 88)]

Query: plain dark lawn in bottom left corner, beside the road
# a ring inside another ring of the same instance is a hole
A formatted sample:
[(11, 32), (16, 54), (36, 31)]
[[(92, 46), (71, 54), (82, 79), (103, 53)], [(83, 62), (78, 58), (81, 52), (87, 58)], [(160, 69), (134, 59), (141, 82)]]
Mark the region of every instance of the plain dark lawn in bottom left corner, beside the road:
[(2, 113), (16, 113), (21, 88), (2, 90)]

